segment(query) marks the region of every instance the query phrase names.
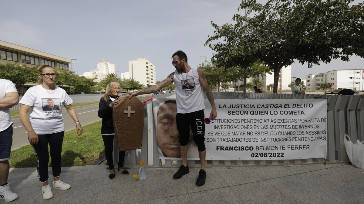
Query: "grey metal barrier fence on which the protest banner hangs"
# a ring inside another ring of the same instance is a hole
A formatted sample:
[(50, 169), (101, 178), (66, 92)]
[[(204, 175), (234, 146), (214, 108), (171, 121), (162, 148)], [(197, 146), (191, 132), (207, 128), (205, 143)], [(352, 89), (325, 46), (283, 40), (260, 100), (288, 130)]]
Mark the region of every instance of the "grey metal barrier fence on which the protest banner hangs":
[[(229, 93), (214, 92), (215, 99), (304, 99), (325, 97), (319, 94), (272, 94), (272, 93)], [(155, 95), (155, 98), (173, 97), (174, 93)], [(141, 97), (143, 101), (148, 97)], [(327, 161), (348, 162), (344, 146), (344, 134), (351, 136), (352, 141), (364, 140), (364, 98), (348, 95), (327, 96)], [(151, 101), (146, 102), (143, 141), (141, 150), (128, 151), (124, 160), (125, 167), (136, 167), (139, 160), (144, 160), (149, 167), (179, 167), (182, 160), (158, 158), (156, 132), (154, 131), (153, 110)], [(116, 144), (116, 142), (114, 143)], [(114, 148), (117, 150), (117, 147)], [(114, 151), (114, 158), (117, 158)], [(117, 159), (114, 160), (115, 162)], [(252, 165), (294, 165), (294, 164), (322, 164), (322, 158), (296, 160), (207, 160), (206, 166), (252, 166)], [(162, 165), (162, 163), (164, 163)], [(199, 160), (188, 160), (189, 166), (200, 166)]]

